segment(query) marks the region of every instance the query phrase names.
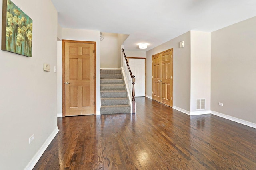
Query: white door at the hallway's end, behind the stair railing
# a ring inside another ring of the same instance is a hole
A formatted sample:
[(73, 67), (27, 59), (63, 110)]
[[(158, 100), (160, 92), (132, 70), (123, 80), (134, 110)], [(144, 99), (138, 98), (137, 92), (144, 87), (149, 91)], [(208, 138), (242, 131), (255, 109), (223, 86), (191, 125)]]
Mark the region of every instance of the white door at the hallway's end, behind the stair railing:
[(128, 59), (132, 74), (135, 76), (135, 97), (145, 97), (145, 59)]

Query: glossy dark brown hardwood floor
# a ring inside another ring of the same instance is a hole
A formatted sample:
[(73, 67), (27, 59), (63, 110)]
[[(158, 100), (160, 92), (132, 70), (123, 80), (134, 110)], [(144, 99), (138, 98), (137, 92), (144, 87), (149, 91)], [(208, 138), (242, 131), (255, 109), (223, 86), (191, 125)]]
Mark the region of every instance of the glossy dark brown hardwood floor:
[(136, 114), (58, 118), (34, 170), (255, 170), (256, 129), (148, 98)]

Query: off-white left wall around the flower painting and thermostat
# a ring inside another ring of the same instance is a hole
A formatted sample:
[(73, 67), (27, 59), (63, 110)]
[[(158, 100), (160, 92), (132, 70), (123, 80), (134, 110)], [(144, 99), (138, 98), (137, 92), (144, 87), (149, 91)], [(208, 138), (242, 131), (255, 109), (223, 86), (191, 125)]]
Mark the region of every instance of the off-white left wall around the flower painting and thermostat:
[[(58, 130), (57, 11), (50, 0), (12, 2), (33, 20), (32, 58), (0, 51), (0, 169), (22, 170)], [(0, 6), (2, 18), (2, 1)]]

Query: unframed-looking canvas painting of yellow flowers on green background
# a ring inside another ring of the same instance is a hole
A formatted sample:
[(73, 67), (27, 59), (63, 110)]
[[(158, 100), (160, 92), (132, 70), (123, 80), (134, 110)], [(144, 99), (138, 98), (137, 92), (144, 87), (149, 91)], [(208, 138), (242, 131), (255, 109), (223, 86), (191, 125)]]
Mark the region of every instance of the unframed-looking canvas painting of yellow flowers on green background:
[(10, 0), (3, 0), (2, 50), (32, 57), (32, 19)]

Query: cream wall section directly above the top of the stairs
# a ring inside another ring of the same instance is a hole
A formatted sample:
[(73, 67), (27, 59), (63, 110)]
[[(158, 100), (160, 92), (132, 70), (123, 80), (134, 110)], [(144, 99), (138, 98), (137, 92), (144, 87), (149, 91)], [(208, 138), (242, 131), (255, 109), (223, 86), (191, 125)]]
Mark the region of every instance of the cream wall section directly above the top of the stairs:
[(115, 33), (104, 33), (100, 41), (100, 68), (118, 68), (118, 38)]

